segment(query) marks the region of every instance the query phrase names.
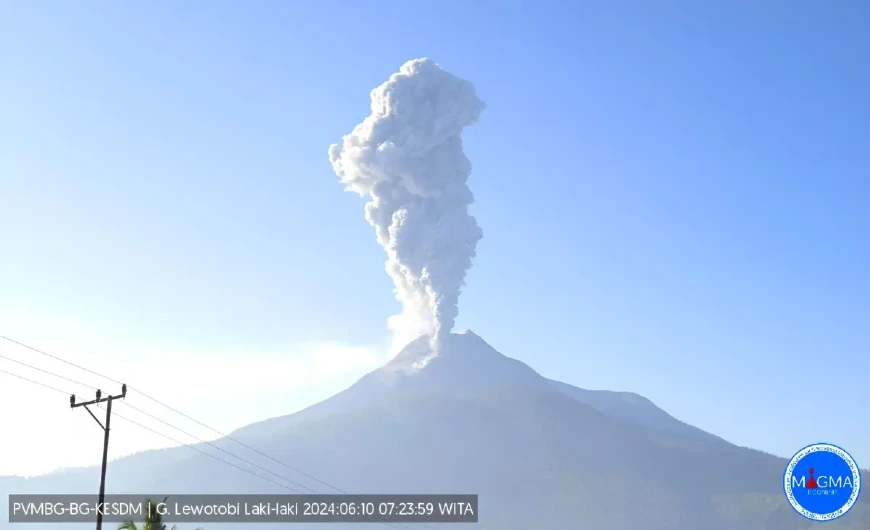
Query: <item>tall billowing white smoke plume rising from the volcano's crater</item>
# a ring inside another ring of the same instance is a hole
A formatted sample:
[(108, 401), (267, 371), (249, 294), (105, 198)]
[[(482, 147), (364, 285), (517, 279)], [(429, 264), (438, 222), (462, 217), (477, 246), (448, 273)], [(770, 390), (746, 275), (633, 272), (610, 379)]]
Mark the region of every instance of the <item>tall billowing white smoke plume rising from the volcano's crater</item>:
[(484, 109), (474, 85), (430, 59), (403, 64), (371, 92), (371, 115), (329, 147), (346, 190), (368, 197), (366, 220), (387, 253), (402, 312), (389, 327), (400, 344), (433, 347), (453, 328), (459, 293), (483, 233), (468, 205), (471, 163), (462, 129)]

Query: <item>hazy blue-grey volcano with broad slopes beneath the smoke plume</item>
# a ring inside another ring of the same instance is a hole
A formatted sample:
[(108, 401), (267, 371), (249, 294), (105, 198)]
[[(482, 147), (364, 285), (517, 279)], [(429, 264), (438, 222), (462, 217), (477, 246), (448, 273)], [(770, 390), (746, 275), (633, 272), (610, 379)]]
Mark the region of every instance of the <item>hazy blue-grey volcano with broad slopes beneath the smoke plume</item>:
[[(232, 440), (215, 445), (323, 493), (335, 493), (327, 484), (353, 493), (478, 493), (480, 523), (461, 528), (803, 530), (815, 524), (785, 501), (784, 459), (734, 446), (636, 394), (546, 379), (472, 332), (448, 336), (437, 355), (421, 337), (332, 398), (231, 437), (306, 475)], [(0, 493), (90, 493), (97, 473), (0, 481)], [(114, 492), (286, 493), (183, 447), (117, 460), (109, 474)], [(828, 527), (866, 530), (870, 506), (863, 502)]]

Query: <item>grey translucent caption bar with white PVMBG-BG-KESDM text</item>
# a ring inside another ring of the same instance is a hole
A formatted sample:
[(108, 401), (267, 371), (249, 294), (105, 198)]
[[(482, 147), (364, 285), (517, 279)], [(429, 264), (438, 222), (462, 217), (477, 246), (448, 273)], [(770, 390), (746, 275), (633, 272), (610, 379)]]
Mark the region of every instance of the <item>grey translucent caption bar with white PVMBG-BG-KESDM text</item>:
[[(151, 499), (148, 501), (147, 499)], [(476, 523), (477, 495), (9, 495), (10, 523)]]

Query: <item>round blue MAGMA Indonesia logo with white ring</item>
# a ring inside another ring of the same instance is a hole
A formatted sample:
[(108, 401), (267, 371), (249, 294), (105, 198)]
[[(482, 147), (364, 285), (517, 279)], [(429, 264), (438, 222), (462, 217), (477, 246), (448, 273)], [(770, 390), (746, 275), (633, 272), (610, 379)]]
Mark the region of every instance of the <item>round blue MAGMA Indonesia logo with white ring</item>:
[(789, 461), (783, 488), (799, 514), (813, 521), (833, 521), (858, 501), (861, 471), (849, 453), (836, 445), (810, 445)]

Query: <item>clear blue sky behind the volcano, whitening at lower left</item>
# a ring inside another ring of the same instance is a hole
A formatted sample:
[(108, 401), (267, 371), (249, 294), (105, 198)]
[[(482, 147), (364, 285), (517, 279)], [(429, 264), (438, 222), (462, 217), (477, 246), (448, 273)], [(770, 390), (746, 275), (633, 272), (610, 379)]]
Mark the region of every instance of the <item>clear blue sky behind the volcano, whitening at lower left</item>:
[[(431, 57), (487, 104), (460, 328), (870, 466), (870, 4), (571, 4), (0, 3), (0, 331), (222, 429), (346, 386), (398, 306), (327, 148)], [(63, 396), (0, 398), (0, 474), (99, 460)]]

